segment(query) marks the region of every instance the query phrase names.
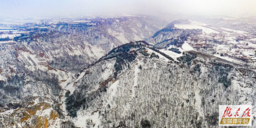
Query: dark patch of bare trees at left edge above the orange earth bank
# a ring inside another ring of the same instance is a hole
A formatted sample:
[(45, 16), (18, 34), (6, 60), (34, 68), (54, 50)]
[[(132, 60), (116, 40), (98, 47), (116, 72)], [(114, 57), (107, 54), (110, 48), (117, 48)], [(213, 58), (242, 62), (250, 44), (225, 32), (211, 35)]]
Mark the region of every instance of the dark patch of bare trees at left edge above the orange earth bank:
[[(48, 91), (50, 89), (50, 92)], [(35, 70), (27, 74), (12, 76), (0, 85), (0, 105), (22, 101), (26, 96), (58, 96), (61, 87), (56, 75)]]

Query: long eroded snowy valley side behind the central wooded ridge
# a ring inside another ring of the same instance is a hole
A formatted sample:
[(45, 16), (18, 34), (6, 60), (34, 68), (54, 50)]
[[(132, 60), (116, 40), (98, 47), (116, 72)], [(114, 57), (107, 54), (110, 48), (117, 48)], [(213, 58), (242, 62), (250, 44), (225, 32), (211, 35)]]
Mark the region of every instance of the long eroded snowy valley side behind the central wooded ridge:
[(61, 82), (113, 47), (149, 37), (165, 24), (154, 18), (91, 19), (92, 25), (60, 22), (43, 31), (22, 34), (13, 43), (0, 43), (1, 105), (21, 101), (27, 95), (36, 96), (38, 84), (46, 90), (51, 88), (50, 83), (59, 88)]

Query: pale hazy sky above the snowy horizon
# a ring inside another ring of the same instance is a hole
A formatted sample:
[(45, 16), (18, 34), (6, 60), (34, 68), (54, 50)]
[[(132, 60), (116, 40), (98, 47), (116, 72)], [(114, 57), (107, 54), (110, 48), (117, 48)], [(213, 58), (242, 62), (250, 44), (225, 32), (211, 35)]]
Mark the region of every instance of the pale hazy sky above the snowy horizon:
[(256, 15), (256, 0), (0, 0), (0, 18), (146, 14)]

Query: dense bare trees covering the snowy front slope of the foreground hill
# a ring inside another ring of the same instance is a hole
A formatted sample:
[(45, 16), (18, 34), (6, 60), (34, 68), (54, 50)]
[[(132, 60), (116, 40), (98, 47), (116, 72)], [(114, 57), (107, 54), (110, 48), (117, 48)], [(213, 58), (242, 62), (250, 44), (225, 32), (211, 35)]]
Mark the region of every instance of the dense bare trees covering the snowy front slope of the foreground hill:
[[(181, 66), (157, 58), (139, 57), (116, 80), (112, 79), (105, 85), (107, 91), (99, 91), (98, 83), (103, 80), (101, 75), (107, 65), (104, 61), (101, 61), (103, 66), (96, 64), (91, 67), (93, 72), (77, 82), (78, 89), (73, 93), (76, 99), (83, 97), (87, 100), (78, 110), (99, 111), (103, 127), (218, 126), (218, 105), (245, 104), (242, 96), (248, 97), (253, 103), (255, 100), (255, 91), (248, 95), (235, 89), (234, 83), (225, 87), (219, 81), (223, 76), (239, 80), (242, 74), (238, 69), (206, 60)], [(137, 69), (137, 63), (143, 67)], [(153, 68), (154, 64), (156, 68)], [(255, 75), (255, 72), (251, 74)], [(255, 80), (250, 79), (248, 77), (238, 82), (250, 83), (255, 90)], [(111, 87), (113, 82), (117, 82), (116, 87)]]

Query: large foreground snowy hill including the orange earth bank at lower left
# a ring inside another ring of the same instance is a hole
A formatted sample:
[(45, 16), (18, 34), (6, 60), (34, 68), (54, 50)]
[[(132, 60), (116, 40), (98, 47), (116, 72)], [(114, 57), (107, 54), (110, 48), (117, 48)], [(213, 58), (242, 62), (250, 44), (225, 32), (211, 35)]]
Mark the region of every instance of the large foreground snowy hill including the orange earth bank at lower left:
[(254, 105), (254, 70), (189, 46), (180, 50), (185, 53), (145, 42), (114, 48), (62, 82), (58, 97), (30, 97), (24, 106), (2, 109), (12, 120), (2, 126), (213, 127), (218, 105)]

